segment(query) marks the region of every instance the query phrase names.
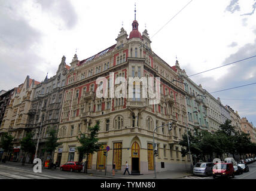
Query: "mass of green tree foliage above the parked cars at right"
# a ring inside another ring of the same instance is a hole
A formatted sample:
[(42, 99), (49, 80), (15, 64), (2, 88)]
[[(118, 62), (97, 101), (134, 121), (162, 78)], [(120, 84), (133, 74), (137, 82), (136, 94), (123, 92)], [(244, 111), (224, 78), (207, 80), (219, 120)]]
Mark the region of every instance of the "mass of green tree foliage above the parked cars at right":
[[(256, 144), (251, 143), (249, 134), (239, 133), (231, 125), (230, 120), (226, 120), (220, 125), (220, 130), (211, 134), (208, 131), (195, 130), (194, 135), (188, 132), (190, 140), (190, 151), (196, 156), (212, 156), (216, 153), (222, 156), (224, 153), (239, 154), (240, 156), (246, 153), (256, 153)], [(182, 156), (188, 153), (187, 134), (182, 135), (182, 140), (179, 145), (182, 146)]]

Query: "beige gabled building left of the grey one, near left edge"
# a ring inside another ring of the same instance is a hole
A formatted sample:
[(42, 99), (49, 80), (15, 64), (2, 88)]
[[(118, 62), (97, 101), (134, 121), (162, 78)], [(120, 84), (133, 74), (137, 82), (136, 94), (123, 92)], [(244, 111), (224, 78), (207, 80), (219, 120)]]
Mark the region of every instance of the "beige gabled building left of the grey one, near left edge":
[[(4, 125), (1, 125), (0, 133), (8, 132), (14, 137), (14, 149), (8, 159), (19, 161), (25, 153), (20, 151), (20, 140), (25, 137), (26, 132), (31, 130), (29, 126), (29, 109), (33, 97), (33, 87), (39, 82), (26, 77), (25, 82), (15, 88), (10, 104), (5, 109)], [(29, 160), (29, 159), (28, 159)]]

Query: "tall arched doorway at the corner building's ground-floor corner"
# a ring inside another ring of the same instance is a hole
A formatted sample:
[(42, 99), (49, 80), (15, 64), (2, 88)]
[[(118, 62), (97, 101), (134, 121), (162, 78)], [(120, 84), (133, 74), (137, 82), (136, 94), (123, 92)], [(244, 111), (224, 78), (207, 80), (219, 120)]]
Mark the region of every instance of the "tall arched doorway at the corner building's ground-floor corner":
[(132, 174), (140, 174), (139, 171), (139, 144), (135, 141), (132, 144)]

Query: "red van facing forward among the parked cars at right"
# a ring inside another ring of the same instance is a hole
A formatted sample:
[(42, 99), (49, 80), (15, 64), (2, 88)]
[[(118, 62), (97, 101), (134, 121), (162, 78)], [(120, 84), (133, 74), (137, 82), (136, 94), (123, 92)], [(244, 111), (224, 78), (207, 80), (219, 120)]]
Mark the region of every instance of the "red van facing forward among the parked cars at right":
[(234, 178), (234, 167), (231, 163), (217, 163), (212, 167), (212, 177), (233, 177)]

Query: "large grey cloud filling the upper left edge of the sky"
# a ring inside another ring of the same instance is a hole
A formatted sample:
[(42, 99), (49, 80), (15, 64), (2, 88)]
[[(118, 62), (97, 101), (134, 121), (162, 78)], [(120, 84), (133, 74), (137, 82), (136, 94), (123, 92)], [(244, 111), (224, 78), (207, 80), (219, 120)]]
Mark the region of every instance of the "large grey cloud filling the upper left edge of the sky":
[(36, 66), (43, 59), (36, 50), (42, 34), (20, 17), (23, 2), (0, 1), (0, 87), (4, 90), (22, 84), (27, 75), (31, 78), (40, 75)]

